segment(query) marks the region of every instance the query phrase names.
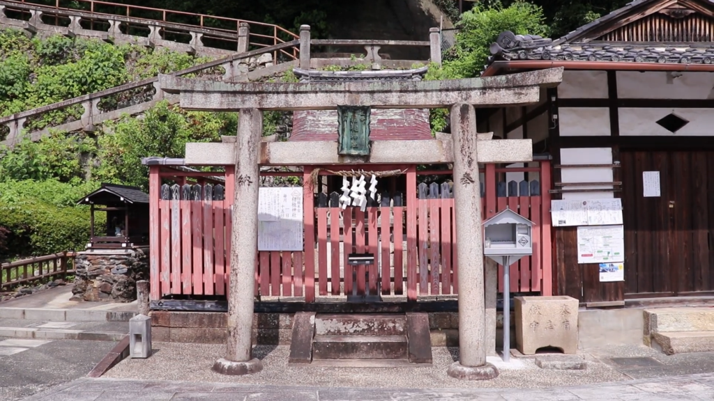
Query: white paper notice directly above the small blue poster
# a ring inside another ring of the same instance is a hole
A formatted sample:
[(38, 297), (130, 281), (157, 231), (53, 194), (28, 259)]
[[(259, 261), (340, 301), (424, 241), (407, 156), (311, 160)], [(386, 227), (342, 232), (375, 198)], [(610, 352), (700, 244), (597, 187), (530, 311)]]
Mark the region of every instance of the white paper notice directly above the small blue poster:
[(578, 227), (578, 263), (617, 263), (625, 261), (623, 225)]

